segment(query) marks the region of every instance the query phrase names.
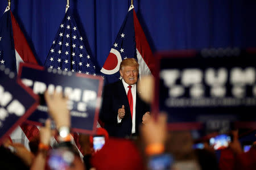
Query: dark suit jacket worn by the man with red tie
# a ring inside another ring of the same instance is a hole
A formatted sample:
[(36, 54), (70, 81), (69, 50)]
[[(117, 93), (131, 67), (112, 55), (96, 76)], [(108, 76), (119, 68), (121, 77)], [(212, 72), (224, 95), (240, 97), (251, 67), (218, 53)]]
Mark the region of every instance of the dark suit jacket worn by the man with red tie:
[[(143, 114), (150, 111), (150, 106), (142, 101), (138, 90), (136, 90), (136, 93), (135, 131), (138, 134)], [(122, 108), (122, 105), (125, 105), (125, 116), (122, 118), (121, 123), (118, 124), (118, 109)], [(131, 135), (131, 112), (122, 80), (104, 87), (100, 120), (105, 123), (104, 128), (110, 136), (126, 137)]]

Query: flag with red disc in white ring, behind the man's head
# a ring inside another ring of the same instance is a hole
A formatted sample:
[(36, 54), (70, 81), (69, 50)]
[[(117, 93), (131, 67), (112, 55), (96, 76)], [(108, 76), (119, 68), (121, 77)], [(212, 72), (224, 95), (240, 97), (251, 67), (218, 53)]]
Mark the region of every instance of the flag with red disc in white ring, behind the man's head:
[(135, 58), (139, 63), (139, 75), (150, 75), (154, 70), (155, 59), (146, 36), (139, 24), (134, 6), (131, 5), (123, 24), (119, 29), (108, 58), (101, 69), (106, 83), (122, 79), (119, 66), (123, 59)]

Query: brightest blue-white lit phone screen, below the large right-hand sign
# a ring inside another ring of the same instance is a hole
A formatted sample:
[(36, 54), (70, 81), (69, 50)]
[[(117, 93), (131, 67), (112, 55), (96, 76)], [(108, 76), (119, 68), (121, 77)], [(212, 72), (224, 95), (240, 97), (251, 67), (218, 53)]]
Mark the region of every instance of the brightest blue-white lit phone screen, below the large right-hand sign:
[(213, 146), (214, 150), (221, 150), (227, 148), (231, 141), (230, 135), (220, 134), (216, 137), (210, 138), (209, 144), (210, 146)]

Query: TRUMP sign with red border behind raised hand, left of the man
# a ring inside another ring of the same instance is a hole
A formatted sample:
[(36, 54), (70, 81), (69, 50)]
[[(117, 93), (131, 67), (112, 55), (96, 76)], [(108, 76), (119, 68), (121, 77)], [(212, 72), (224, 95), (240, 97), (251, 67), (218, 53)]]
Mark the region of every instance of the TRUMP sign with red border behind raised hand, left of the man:
[(55, 89), (63, 91), (63, 94), (69, 97), (72, 130), (88, 134), (95, 132), (101, 105), (101, 76), (45, 69), (21, 63), (18, 78), (40, 96), (38, 108), (28, 117), (31, 124), (42, 125), (49, 117), (44, 92), (47, 89)]

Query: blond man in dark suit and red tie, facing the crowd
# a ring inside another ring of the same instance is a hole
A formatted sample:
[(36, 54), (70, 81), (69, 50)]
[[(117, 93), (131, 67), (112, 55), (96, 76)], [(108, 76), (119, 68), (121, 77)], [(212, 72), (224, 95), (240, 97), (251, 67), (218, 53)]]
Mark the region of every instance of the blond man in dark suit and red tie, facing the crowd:
[(138, 135), (139, 124), (150, 118), (150, 106), (137, 91), (139, 64), (134, 58), (124, 59), (119, 72), (122, 80), (104, 87), (100, 120), (110, 136)]

